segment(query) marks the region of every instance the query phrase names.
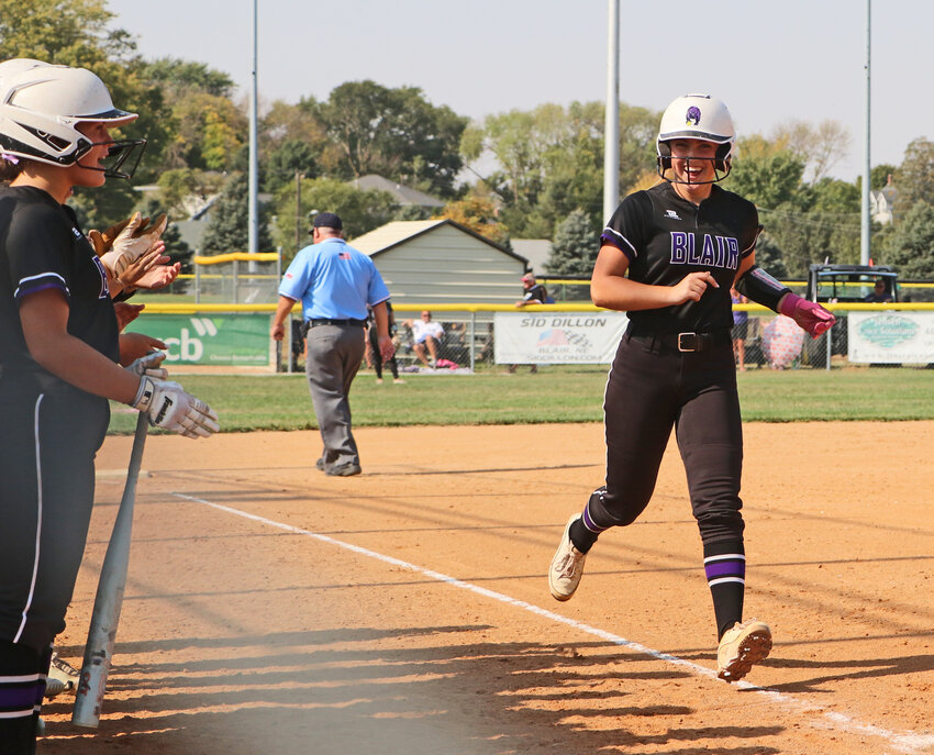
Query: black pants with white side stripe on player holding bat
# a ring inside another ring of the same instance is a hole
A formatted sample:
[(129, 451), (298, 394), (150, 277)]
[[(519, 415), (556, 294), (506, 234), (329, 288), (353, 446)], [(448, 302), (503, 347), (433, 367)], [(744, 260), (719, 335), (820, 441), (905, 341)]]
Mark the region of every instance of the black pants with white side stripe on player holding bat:
[(107, 399), (0, 380), (0, 641), (45, 653), (65, 629), (94, 499)]

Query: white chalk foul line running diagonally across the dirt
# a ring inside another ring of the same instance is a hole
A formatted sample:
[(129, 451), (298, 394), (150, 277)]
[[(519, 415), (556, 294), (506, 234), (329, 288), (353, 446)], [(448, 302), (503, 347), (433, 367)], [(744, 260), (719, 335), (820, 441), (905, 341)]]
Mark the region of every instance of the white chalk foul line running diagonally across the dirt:
[[(656, 660), (663, 660), (672, 666), (680, 666), (681, 668), (686, 668), (694, 676), (705, 676), (711, 679), (716, 678), (715, 671), (704, 666), (699, 666), (696, 663), (691, 663), (690, 660), (685, 660), (683, 658), (679, 658), (675, 655), (669, 655), (668, 653), (663, 653), (660, 651), (653, 649), (652, 647), (646, 647), (645, 645), (642, 645), (637, 642), (633, 642), (632, 640), (626, 640), (625, 637), (622, 637), (618, 634), (613, 634), (612, 632), (607, 632), (605, 630), (601, 630), (597, 626), (585, 624), (583, 622), (577, 621), (576, 619), (563, 617), (560, 613), (548, 611), (547, 609), (534, 606), (533, 603), (527, 603), (524, 600), (519, 600), (518, 598), (512, 598), (508, 595), (503, 595), (502, 592), (497, 592), (494, 590), (487, 589), (486, 587), (480, 587), (479, 585), (474, 585), (471, 582), (465, 582), (463, 579), (457, 579), (456, 577), (451, 577), (446, 574), (434, 571), (433, 569), (426, 569), (422, 566), (410, 564), (409, 562), (404, 562), (401, 558), (396, 558), (394, 556), (387, 556), (386, 554), (377, 553), (376, 551), (370, 551), (369, 548), (365, 548), (359, 545), (354, 545), (353, 543), (345, 543), (344, 541), (336, 540), (334, 537), (329, 537), (327, 535), (322, 535), (316, 532), (311, 532), (310, 530), (302, 530), (301, 528), (293, 526), (291, 524), (276, 522), (271, 519), (266, 519), (265, 517), (259, 517), (257, 514), (252, 514), (247, 511), (242, 511), (240, 509), (234, 509), (229, 506), (223, 506), (222, 503), (207, 501), (203, 498), (196, 498), (194, 496), (187, 496), (180, 492), (175, 492), (173, 493), (173, 496), (175, 496), (176, 498), (182, 498), (185, 500), (192, 501), (194, 503), (202, 503), (204, 506), (211, 507), (212, 509), (225, 511), (226, 513), (231, 513), (236, 517), (242, 517), (243, 519), (249, 519), (254, 522), (259, 522), (260, 524), (266, 524), (278, 530), (291, 532), (297, 535), (312, 537), (313, 540), (320, 541), (322, 543), (327, 543), (330, 545), (336, 545), (337, 547), (344, 548), (345, 551), (357, 553), (362, 556), (366, 556), (367, 558), (375, 558), (376, 560), (380, 560), (383, 564), (391, 564), (392, 566), (398, 566), (410, 571), (416, 571), (418, 574), (421, 574), (425, 577), (430, 577), (432, 579), (436, 579), (437, 581), (444, 582), (445, 585), (451, 585), (452, 587), (457, 587), (462, 590), (467, 590), (468, 592), (474, 592), (476, 595), (483, 596), (485, 598), (490, 598), (501, 603), (507, 603), (514, 608), (529, 611), (530, 613), (534, 613), (559, 624), (567, 624), (568, 626), (572, 626), (579, 632), (593, 635), (594, 637), (600, 637), (601, 640), (605, 640), (607, 642), (613, 643), (614, 645), (626, 647), (642, 655), (647, 655), (652, 658), (655, 658)], [(768, 698), (772, 702), (777, 702), (786, 708), (793, 708), (797, 711), (803, 713), (818, 713), (818, 717), (812, 722), (815, 726), (835, 729), (838, 731), (864, 734), (867, 736), (878, 736), (881, 740), (886, 740), (892, 747), (902, 753), (921, 752), (924, 748), (934, 745), (934, 734), (919, 734), (912, 731), (897, 732), (889, 729), (883, 729), (882, 726), (877, 726), (872, 723), (863, 723), (861, 721), (858, 721), (850, 715), (846, 715), (845, 713), (824, 711), (821, 710), (818, 706), (813, 706), (809, 702), (798, 700), (797, 698), (783, 695), (782, 692), (776, 692), (774, 690), (764, 689), (763, 687), (757, 687), (756, 685), (749, 684), (748, 681), (737, 681), (735, 682), (735, 686), (741, 687), (743, 689), (753, 690), (758, 695)], [(823, 721), (823, 723), (821, 723), (821, 721)]]

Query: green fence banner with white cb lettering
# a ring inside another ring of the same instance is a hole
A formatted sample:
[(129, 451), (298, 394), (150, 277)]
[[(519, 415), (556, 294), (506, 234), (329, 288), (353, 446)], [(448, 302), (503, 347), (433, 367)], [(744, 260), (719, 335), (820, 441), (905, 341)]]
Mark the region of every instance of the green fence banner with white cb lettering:
[(143, 314), (126, 327), (165, 341), (177, 365), (268, 365), (268, 314)]

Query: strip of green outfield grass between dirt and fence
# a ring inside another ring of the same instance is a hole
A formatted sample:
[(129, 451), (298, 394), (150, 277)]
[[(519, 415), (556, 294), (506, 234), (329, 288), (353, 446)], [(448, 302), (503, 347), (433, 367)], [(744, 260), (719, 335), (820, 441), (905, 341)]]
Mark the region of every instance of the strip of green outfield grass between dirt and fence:
[[(316, 428), (304, 375), (175, 376), (220, 414), (223, 432)], [(408, 375), (378, 386), (357, 376), (356, 426), (526, 424), (602, 420), (604, 367), (543, 367), (536, 375)], [(754, 369), (738, 375), (743, 419), (752, 422), (934, 419), (934, 370)], [(115, 407), (115, 409), (118, 409)], [(132, 433), (135, 412), (115, 411), (112, 433)]]

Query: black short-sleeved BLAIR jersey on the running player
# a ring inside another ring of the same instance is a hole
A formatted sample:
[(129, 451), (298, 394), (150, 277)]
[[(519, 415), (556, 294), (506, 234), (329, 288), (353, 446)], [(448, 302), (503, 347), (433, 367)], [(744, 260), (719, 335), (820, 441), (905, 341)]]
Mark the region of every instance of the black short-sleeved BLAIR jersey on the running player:
[(730, 287), (760, 230), (755, 204), (738, 195), (713, 186), (697, 206), (666, 181), (626, 197), (601, 241), (626, 255), (629, 276), (641, 284), (675, 286), (689, 273), (711, 273), (720, 288), (708, 287), (700, 301), (627, 312), (640, 332), (705, 333), (733, 326)]

